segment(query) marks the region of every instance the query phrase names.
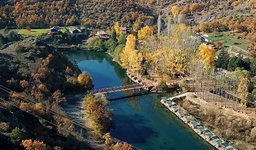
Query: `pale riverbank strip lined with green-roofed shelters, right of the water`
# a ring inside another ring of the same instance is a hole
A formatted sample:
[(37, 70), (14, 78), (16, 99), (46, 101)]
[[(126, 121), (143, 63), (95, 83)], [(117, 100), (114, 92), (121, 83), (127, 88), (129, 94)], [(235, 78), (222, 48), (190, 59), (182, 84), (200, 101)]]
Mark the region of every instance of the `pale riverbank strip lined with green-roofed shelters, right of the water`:
[(185, 124), (190, 126), (190, 128), (196, 132), (200, 137), (209, 142), (212, 146), (217, 148), (218, 150), (234, 150), (234, 148), (228, 145), (224, 140), (218, 138), (215, 134), (210, 132), (207, 128), (199, 124), (198, 120), (194, 119), (194, 116), (190, 114), (186, 114), (184, 111), (178, 108), (175, 99), (185, 98), (190, 94), (194, 94), (193, 92), (186, 92), (180, 94), (178, 96), (174, 96), (171, 98), (162, 97), (161, 103), (164, 104), (172, 113), (174, 113), (178, 118), (180, 118)]

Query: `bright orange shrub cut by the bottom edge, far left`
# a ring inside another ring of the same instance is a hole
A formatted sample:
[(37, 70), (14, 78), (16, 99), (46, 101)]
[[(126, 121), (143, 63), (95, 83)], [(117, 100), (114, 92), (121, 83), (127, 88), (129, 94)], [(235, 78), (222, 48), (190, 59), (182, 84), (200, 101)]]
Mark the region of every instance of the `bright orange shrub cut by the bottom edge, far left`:
[(46, 150), (46, 144), (39, 140), (34, 140), (34, 142), (31, 139), (22, 140), (20, 145), (26, 148), (26, 150)]

